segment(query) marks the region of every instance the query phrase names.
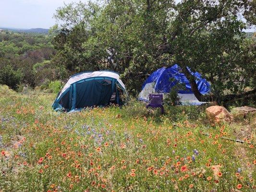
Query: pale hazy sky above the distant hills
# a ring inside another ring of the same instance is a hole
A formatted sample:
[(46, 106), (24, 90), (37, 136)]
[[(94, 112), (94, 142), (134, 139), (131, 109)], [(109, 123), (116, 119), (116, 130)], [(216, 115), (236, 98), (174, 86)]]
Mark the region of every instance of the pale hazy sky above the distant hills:
[[(64, 3), (80, 0), (0, 0), (0, 27), (45, 28), (55, 24), (53, 15)], [(82, 0), (86, 2), (88, 0)], [(97, 1), (97, 0), (95, 0)], [(181, 0), (175, 0), (176, 3)], [(246, 30), (254, 32), (256, 28)]]

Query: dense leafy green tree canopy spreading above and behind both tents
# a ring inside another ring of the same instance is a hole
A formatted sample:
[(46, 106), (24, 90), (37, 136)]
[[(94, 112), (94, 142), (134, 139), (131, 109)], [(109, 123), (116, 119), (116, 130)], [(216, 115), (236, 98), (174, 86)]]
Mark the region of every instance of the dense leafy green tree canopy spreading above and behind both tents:
[(71, 73), (120, 72), (133, 93), (148, 74), (178, 63), (199, 100), (186, 66), (207, 78), (215, 98), (241, 93), (255, 88), (255, 39), (246, 39), (243, 32), (254, 24), (253, 9), (255, 1), (250, 0), (67, 4), (55, 14), (55, 62)]

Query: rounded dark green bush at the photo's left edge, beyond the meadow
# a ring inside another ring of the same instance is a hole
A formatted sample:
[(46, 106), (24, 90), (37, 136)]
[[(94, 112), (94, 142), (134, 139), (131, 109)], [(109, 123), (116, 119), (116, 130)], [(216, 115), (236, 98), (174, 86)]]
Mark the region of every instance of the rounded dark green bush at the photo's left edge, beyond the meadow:
[(22, 72), (20, 70), (15, 71), (11, 65), (6, 65), (0, 69), (0, 84), (6, 84), (12, 89), (17, 88), (22, 77)]

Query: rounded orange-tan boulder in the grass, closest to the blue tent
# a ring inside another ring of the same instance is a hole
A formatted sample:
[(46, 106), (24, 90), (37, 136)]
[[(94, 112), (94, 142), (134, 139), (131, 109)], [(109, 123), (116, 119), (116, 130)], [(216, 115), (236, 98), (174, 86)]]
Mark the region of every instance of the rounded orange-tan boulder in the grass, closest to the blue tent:
[(231, 113), (222, 106), (211, 106), (206, 109), (206, 114), (209, 120), (217, 123), (220, 121), (230, 122), (233, 120)]

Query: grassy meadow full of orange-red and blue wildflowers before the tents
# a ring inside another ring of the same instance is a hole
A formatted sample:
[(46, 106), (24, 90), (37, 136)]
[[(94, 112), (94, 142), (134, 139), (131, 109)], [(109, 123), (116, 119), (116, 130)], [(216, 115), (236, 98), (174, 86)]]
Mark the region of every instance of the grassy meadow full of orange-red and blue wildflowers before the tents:
[(61, 113), (55, 96), (0, 86), (0, 192), (256, 189), (255, 115), (214, 124), (204, 107), (160, 115), (135, 100)]

